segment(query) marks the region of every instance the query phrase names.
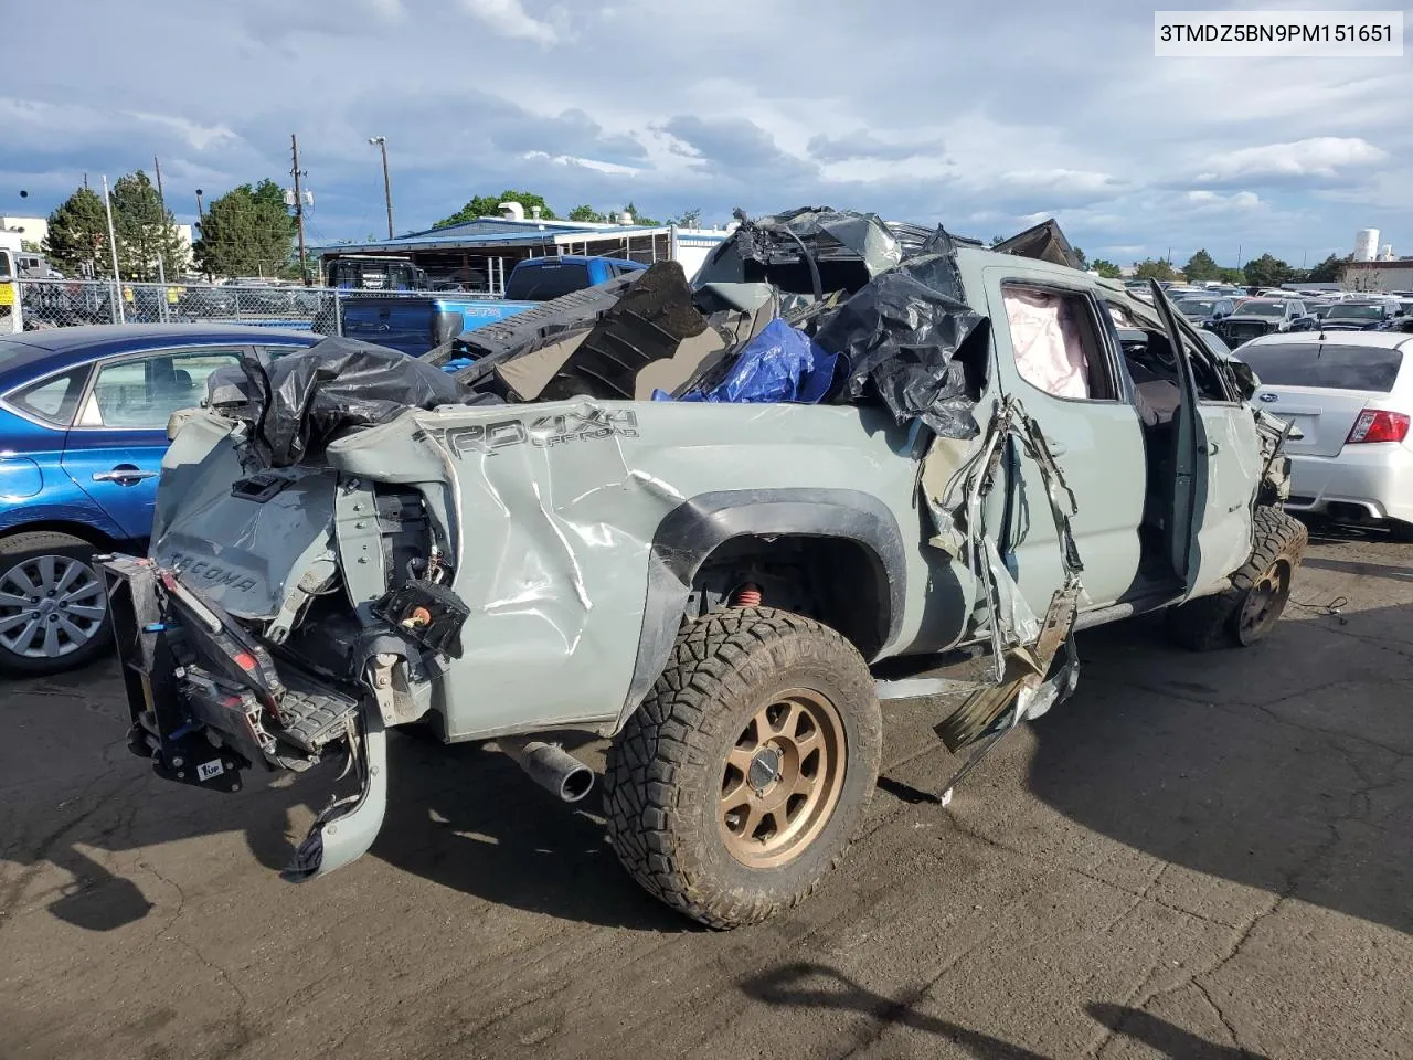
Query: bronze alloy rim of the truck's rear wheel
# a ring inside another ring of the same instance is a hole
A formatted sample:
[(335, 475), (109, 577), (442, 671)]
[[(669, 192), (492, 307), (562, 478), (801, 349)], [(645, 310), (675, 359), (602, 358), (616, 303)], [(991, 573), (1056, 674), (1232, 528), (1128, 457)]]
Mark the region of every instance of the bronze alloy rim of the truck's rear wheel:
[(771, 695), (723, 763), (716, 821), (731, 855), (749, 868), (796, 858), (828, 824), (845, 760), (844, 722), (827, 695)]

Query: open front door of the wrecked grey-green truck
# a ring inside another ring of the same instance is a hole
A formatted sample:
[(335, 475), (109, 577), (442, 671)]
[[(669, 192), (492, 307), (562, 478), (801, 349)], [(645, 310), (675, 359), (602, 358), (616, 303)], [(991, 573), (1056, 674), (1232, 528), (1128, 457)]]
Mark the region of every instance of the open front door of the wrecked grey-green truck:
[(1251, 554), (1252, 502), (1260, 483), (1256, 421), (1229, 391), (1211, 355), (1178, 326), (1150, 281), (1153, 305), (1177, 353), (1181, 401), (1173, 432), (1173, 570), (1188, 592), (1218, 589)]

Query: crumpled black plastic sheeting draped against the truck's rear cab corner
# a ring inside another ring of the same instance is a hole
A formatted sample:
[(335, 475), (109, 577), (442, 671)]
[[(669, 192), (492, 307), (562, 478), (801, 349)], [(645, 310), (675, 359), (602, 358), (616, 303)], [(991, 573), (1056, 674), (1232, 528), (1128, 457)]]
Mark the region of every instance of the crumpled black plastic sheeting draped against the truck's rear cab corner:
[(848, 394), (877, 390), (901, 424), (921, 420), (944, 438), (975, 438), (975, 399), (957, 353), (986, 318), (962, 300), (955, 247), (942, 229), (900, 266), (876, 276), (815, 334), (848, 358)]

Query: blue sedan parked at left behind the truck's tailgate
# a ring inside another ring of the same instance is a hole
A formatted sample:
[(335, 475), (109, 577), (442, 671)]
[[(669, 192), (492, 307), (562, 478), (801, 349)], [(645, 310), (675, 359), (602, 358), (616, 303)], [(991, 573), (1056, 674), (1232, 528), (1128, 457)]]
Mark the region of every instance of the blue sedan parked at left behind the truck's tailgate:
[(93, 555), (146, 551), (171, 414), (201, 404), (215, 369), (322, 338), (191, 324), (0, 338), (0, 670), (52, 674), (106, 650)]

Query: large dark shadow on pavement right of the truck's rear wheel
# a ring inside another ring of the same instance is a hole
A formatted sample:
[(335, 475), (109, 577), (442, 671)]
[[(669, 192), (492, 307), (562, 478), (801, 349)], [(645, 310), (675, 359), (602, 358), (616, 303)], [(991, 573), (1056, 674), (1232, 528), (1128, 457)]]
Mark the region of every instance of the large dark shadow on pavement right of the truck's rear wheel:
[(1078, 691), (1034, 722), (1030, 790), (1177, 866), (1413, 931), (1407, 644), (1413, 608), (1207, 654), (1146, 622), (1088, 630)]

